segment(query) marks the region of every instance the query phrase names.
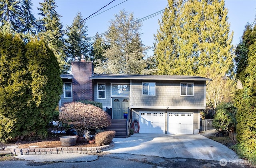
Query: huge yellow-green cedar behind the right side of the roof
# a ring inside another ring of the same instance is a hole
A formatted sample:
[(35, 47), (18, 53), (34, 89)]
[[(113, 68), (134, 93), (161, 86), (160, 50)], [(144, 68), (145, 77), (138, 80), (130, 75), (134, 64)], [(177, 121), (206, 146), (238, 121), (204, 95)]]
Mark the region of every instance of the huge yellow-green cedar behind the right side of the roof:
[(214, 110), (231, 100), (233, 75), (232, 36), (224, 0), (168, 0), (154, 55), (158, 74), (196, 75), (212, 78), (207, 106)]

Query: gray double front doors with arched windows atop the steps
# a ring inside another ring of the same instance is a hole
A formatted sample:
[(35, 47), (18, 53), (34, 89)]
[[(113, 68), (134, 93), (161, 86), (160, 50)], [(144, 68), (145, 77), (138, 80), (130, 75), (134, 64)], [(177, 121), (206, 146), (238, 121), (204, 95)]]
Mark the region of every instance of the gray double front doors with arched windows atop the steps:
[(124, 119), (124, 112), (129, 107), (129, 98), (113, 98), (112, 102), (113, 119)]

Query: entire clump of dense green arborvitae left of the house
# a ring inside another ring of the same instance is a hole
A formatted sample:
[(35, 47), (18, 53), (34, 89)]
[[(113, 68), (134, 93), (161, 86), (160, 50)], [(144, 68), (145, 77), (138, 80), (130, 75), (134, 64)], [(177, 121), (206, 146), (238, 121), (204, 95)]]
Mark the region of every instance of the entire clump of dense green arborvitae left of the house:
[(44, 41), (0, 33), (0, 141), (43, 139), (62, 93), (58, 62)]

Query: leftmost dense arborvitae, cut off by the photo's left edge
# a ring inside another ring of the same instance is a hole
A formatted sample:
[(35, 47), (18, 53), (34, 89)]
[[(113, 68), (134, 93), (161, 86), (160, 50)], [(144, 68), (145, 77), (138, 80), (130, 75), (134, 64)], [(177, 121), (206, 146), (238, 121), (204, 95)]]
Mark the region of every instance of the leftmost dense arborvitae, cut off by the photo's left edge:
[[(0, 33), (0, 141), (23, 136), (28, 118), (29, 80), (24, 43), (15, 36)], [(26, 117), (27, 116), (27, 117)]]

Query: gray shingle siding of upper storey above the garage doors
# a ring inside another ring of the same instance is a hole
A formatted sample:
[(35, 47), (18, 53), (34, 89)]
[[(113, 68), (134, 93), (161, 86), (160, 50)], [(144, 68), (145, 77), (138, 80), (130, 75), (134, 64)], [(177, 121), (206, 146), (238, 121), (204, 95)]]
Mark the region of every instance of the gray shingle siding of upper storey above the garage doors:
[(160, 80), (156, 81), (156, 96), (142, 96), (142, 82), (148, 81), (132, 81), (132, 105), (205, 106), (204, 81), (194, 81), (194, 96), (180, 96), (180, 81)]

